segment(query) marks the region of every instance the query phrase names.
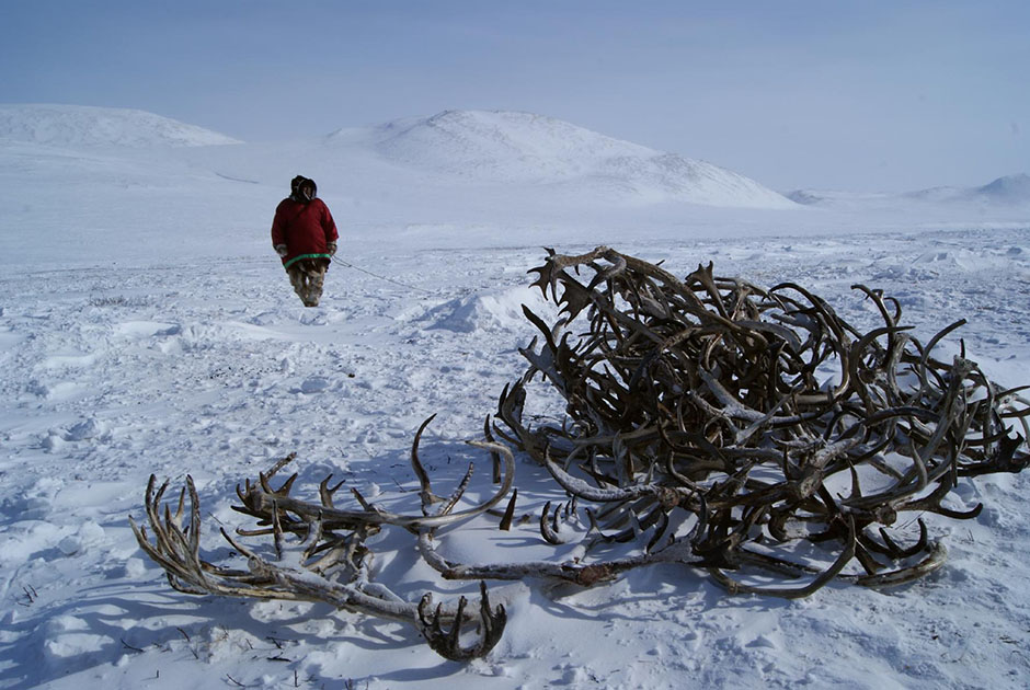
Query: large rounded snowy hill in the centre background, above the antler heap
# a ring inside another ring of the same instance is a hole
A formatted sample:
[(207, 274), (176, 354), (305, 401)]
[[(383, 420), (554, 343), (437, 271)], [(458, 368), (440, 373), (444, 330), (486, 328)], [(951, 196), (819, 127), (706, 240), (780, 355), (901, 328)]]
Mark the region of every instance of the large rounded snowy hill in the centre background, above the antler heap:
[(575, 184), (640, 200), (787, 208), (754, 180), (703, 161), (517, 112), (445, 111), (380, 128), (386, 158), (492, 182)]

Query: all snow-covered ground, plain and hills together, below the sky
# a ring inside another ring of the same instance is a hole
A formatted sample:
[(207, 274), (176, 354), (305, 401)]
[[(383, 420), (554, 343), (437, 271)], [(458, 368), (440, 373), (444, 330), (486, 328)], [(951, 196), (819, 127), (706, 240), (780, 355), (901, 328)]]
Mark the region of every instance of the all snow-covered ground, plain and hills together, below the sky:
[[(0, 107), (0, 688), (1025, 688), (1030, 476), (955, 490), (974, 520), (929, 516), (949, 560), (917, 583), (831, 584), (785, 601), (703, 574), (638, 570), (588, 590), (491, 583), (499, 646), (468, 665), (411, 626), (322, 605), (190, 597), (139, 550), (156, 473), (191, 474), (203, 549), (250, 526), (234, 486), (296, 451), (419, 511), (419, 425), (434, 480), (457, 482), (547, 310), (542, 246), (607, 244), (686, 274), (793, 280), (855, 323), (850, 286), (896, 297), (926, 341), (997, 382), (1030, 383), (1030, 194), (791, 195), (731, 171), (525, 114), (451, 112), (307, 140), (240, 143), (149, 114)], [(96, 133), (106, 133), (96, 136)], [(191, 145), (191, 146), (186, 146)], [(1004, 173), (1006, 171), (999, 171)], [(340, 226), (322, 306), (291, 294), (268, 240), (295, 174)], [(987, 183), (988, 181), (984, 181)], [(1015, 191), (1014, 191), (1015, 189)], [(950, 348), (950, 349), (949, 349)], [(488, 467), (482, 464), (483, 468)], [(519, 514), (554, 496), (517, 465)], [(491, 491), (481, 469), (472, 494)], [(917, 531), (915, 519), (908, 527)], [(926, 516), (924, 516), (926, 517)], [(446, 542), (487, 561), (548, 557), (535, 520)], [(514, 547), (518, 549), (514, 549)], [(377, 579), (416, 600), (473, 594), (386, 536)]]

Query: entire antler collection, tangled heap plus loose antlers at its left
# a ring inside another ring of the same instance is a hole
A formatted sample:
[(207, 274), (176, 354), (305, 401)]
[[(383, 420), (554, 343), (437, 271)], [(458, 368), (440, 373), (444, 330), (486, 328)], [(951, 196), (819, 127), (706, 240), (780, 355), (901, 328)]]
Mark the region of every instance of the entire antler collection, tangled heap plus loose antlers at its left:
[[(271, 484), (290, 456), (238, 490), (237, 509), (259, 519), (259, 529), (238, 533), (271, 536), (275, 560), (222, 530), (249, 570), (203, 561), (190, 480), (184, 525), (186, 490), (176, 511), (165, 507), (162, 516), (165, 487), (156, 492), (151, 478), (146, 506), (154, 542), (134, 522), (140, 547), (182, 591), (325, 601), (404, 620), (443, 656), (467, 660), (500, 641), (504, 607), (491, 607), (485, 584), (476, 613), (464, 598), (433, 611), (430, 595), (403, 600), (370, 582), (367, 537), (389, 526), (408, 530), (424, 561), (448, 579), (592, 586), (634, 567), (677, 563), (702, 568), (731, 593), (803, 597), (834, 578), (883, 587), (935, 571), (945, 548), (930, 541), (922, 519), (919, 536), (901, 543), (889, 531), (899, 515), (975, 517), (982, 506), (945, 505), (961, 478), (1030, 463), (1022, 389), (999, 389), (963, 356), (930, 356), (961, 321), (923, 345), (900, 325), (899, 303), (863, 286), (856, 289), (883, 321), (869, 332), (794, 284), (763, 289), (716, 277), (711, 265), (680, 280), (607, 248), (549, 253), (534, 269), (535, 285), (561, 307), (559, 319), (548, 324), (525, 309), (542, 342), (522, 350), (529, 368), (501, 395), (497, 417), (506, 428), (488, 419), (487, 441), (473, 444), (493, 457), (500, 487), (490, 498), (455, 511), (471, 467), (449, 496), (433, 492), (417, 452), (427, 419), (411, 452), (422, 515), (388, 513), (357, 492), (359, 510), (339, 509), (340, 485), (330, 487), (329, 478), (318, 502), (294, 498), (296, 475)], [(531, 427), (524, 419), (538, 377), (564, 400), (560, 423)], [(550, 543), (576, 540), (574, 557), (466, 564), (437, 550), (438, 529), (494, 514), (508, 494), (507, 509), (496, 514), (502, 529), (512, 528), (515, 463), (495, 435), (542, 464), (556, 497), (568, 498), (553, 510), (548, 503), (539, 526)], [(751, 571), (783, 582), (748, 584)], [(460, 640), (467, 624), (479, 626), (470, 645)]]

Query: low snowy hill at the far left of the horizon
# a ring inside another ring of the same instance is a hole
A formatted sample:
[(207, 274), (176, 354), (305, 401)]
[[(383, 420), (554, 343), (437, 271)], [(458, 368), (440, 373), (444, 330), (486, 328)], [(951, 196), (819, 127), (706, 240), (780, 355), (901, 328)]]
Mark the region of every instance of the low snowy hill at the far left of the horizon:
[(87, 105), (0, 105), (0, 141), (62, 147), (195, 147), (239, 143), (145, 111)]

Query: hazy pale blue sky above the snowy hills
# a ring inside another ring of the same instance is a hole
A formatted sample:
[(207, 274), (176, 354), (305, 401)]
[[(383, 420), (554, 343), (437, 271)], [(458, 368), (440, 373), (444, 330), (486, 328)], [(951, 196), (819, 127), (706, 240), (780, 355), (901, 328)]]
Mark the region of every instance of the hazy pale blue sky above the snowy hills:
[(0, 102), (245, 140), (527, 111), (779, 191), (1030, 173), (1030, 2), (88, 2), (0, 8)]

